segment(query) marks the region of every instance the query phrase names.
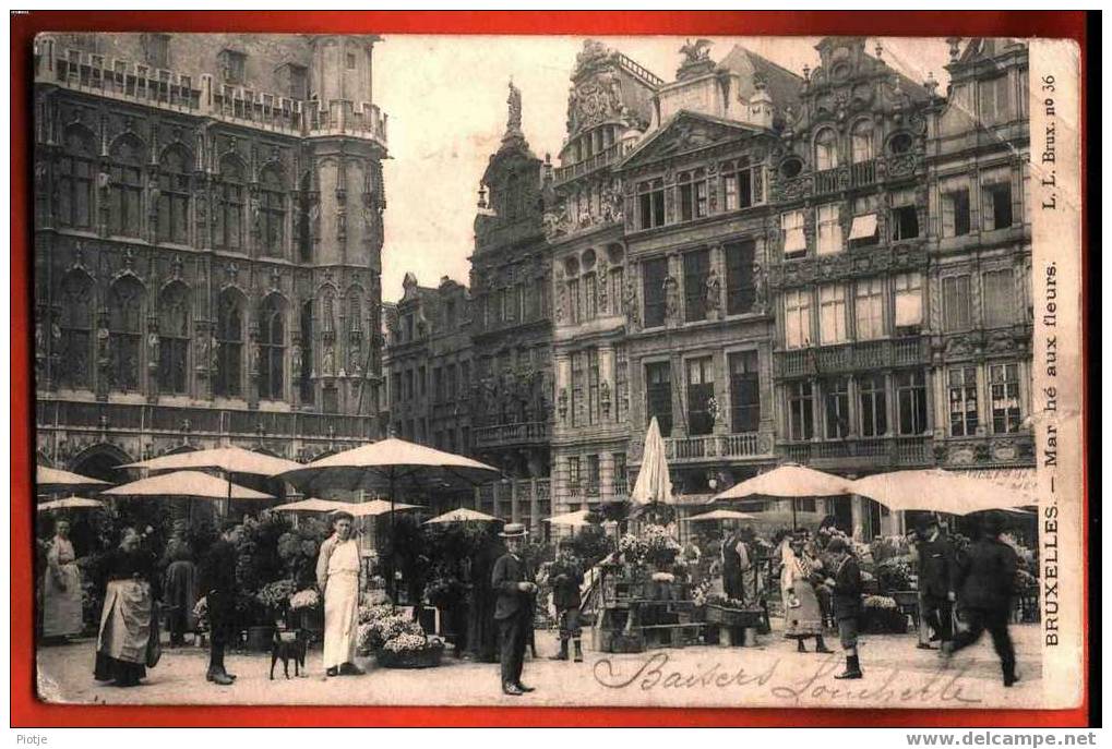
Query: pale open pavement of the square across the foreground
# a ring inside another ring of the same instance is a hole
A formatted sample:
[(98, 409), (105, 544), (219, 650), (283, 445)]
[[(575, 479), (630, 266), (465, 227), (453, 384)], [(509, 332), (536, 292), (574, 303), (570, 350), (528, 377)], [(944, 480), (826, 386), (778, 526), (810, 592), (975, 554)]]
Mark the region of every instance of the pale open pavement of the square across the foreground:
[[(498, 667), (455, 660), (431, 670), (393, 670), (360, 659), (360, 677), (326, 679), (320, 651), (309, 653), (309, 676), (286, 680), (281, 665), (270, 681), (269, 653), (230, 653), (232, 687), (205, 681), (207, 652), (166, 649), (143, 685), (131, 689), (92, 679), (92, 640), (42, 647), (38, 651), (39, 693), (44, 699), (92, 703), (151, 705), (457, 705), (457, 706), (646, 706), (646, 707), (838, 707), (960, 708), (1037, 707), (1043, 700), (1039, 627), (1015, 626), (1021, 681), (1001, 683), (989, 637), (946, 665), (936, 651), (915, 648), (913, 635), (862, 638), (865, 678), (837, 681), (841, 653), (795, 652), (778, 632), (757, 647), (716, 646), (651, 650), (636, 655), (586, 652), (583, 663), (552, 661), (552, 632), (537, 632), (537, 659), (526, 659), (523, 680), (536, 691), (502, 693)], [(828, 637), (837, 648), (836, 637)], [(808, 649), (813, 643), (808, 645)]]

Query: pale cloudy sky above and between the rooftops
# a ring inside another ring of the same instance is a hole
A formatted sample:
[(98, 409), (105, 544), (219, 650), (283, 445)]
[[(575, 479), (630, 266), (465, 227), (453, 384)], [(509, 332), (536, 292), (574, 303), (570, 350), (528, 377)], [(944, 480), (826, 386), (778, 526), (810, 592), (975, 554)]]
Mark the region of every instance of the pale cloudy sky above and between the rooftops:
[[(594, 37), (666, 81), (681, 37)], [(567, 94), (584, 37), (390, 36), (375, 47), (375, 102), (389, 118), (383, 299), (401, 297), (407, 272), (421, 286), (468, 282), (478, 184), (506, 129), (507, 83), (522, 91), (523, 130), (539, 158), (564, 141)], [(711, 57), (735, 44), (802, 74), (818, 66), (818, 37), (714, 37)], [(866, 49), (873, 53), (870, 39)], [(883, 58), (912, 80), (932, 71), (945, 91), (942, 39), (884, 39)]]

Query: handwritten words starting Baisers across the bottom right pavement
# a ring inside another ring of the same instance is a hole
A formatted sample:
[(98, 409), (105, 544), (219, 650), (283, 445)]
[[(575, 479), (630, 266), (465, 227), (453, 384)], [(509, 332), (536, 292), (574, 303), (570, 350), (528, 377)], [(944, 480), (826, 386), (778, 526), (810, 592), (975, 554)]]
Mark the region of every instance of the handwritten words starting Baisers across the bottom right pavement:
[(642, 691), (764, 688), (772, 697), (795, 705), (804, 701), (861, 703), (870, 707), (887, 703), (937, 706), (947, 702), (981, 702), (980, 698), (965, 692), (965, 685), (962, 682), (967, 672), (966, 667), (952, 670), (940, 668), (931, 672), (925, 682), (905, 686), (911, 672), (900, 668), (884, 669), (884, 677), (880, 682), (876, 677), (870, 679), (870, 683), (834, 680), (834, 675), (842, 667), (837, 657), (817, 661), (813, 670), (808, 669), (802, 678), (783, 673), (786, 668), (781, 659), (756, 669), (746, 669), (744, 666), (735, 668), (721, 661), (685, 668), (669, 666), (669, 662), (671, 656), (666, 652), (655, 652), (633, 663), (603, 658), (595, 661), (594, 677), (596, 682), (608, 689), (631, 688)]

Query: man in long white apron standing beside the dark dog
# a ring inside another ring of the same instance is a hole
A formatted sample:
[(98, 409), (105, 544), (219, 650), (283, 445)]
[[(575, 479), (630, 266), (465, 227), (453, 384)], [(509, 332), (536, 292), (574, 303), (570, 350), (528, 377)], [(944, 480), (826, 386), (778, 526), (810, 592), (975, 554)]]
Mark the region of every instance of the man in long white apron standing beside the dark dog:
[(320, 545), (317, 586), (325, 599), (325, 673), (358, 676), (355, 665), (359, 633), (359, 546), (350, 512), (332, 512), (332, 535)]

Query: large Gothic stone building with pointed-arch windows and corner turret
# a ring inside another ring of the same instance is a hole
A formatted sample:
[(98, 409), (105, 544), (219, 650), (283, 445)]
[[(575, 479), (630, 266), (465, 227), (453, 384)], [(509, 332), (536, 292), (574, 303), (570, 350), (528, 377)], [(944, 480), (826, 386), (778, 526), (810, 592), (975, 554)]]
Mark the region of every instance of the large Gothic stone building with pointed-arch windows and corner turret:
[(40, 460), (378, 436), (376, 41), (37, 39)]

